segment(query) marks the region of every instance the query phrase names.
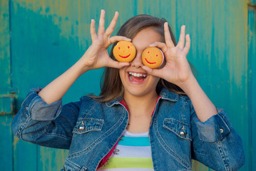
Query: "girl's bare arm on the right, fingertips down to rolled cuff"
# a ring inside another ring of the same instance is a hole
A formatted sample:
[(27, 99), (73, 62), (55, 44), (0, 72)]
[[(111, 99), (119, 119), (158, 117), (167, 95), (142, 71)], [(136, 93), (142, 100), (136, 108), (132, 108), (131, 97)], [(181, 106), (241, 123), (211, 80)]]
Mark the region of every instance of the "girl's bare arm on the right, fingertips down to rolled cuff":
[[(174, 46), (170, 37), (168, 24), (165, 23), (165, 43), (155, 42), (150, 46), (161, 48), (165, 54), (166, 64), (160, 69), (151, 69), (142, 66), (148, 74), (158, 76), (170, 83), (174, 83), (184, 90), (190, 98), (195, 113), (201, 122), (205, 122), (213, 115), (218, 113), (215, 105), (211, 102), (203, 89), (196, 81), (190, 68), (186, 56), (190, 50), (190, 36), (185, 36), (185, 26), (181, 27), (180, 40), (177, 46)], [(185, 43), (186, 38), (186, 43)]]

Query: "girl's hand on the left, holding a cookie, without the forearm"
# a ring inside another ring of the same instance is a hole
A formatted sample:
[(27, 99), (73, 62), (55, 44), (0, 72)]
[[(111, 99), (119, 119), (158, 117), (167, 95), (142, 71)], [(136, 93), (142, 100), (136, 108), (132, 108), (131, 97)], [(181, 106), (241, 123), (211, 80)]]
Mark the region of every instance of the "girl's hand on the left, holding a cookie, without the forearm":
[(113, 33), (116, 22), (118, 20), (118, 15), (118, 12), (116, 12), (111, 21), (111, 24), (105, 31), (105, 11), (101, 10), (98, 33), (96, 33), (95, 21), (93, 19), (91, 20), (91, 39), (93, 43), (79, 60), (79, 62), (83, 63), (83, 68), (85, 68), (85, 71), (102, 67), (122, 68), (123, 66), (130, 65), (130, 63), (120, 63), (118, 61), (113, 61), (113, 59), (111, 59), (108, 55), (108, 46), (110, 46), (111, 43), (123, 40), (130, 41), (130, 38), (123, 36), (111, 37), (111, 33)]

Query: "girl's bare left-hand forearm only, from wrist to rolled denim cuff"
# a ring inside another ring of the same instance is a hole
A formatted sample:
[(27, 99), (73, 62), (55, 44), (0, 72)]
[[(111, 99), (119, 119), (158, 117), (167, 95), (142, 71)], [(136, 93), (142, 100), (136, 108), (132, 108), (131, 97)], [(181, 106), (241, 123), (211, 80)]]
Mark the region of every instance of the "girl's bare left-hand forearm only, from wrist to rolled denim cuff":
[[(83, 71), (83, 72), (82, 72)], [(81, 76), (85, 68), (82, 66), (81, 60), (75, 63), (61, 76), (49, 83), (45, 88), (39, 92), (39, 96), (48, 104), (60, 100), (63, 95), (68, 91), (76, 79)]]

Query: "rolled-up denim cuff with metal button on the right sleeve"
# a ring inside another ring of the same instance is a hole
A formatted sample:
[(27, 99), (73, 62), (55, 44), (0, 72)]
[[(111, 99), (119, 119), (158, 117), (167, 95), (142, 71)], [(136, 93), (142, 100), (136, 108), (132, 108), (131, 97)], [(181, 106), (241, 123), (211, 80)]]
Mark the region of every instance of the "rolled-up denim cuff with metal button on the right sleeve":
[(198, 137), (205, 142), (217, 142), (225, 138), (232, 127), (224, 110), (217, 109), (217, 115), (213, 115), (204, 123), (196, 118), (195, 124), (198, 128)]

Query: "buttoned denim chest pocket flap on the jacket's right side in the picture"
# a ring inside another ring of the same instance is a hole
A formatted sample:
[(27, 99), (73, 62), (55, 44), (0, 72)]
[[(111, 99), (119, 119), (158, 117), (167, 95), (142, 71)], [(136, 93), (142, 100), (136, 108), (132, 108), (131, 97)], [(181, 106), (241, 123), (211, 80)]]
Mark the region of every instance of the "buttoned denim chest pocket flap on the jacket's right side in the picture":
[(192, 140), (190, 123), (185, 123), (183, 121), (175, 120), (173, 118), (165, 118), (165, 120), (163, 120), (163, 128), (172, 131), (179, 138)]

